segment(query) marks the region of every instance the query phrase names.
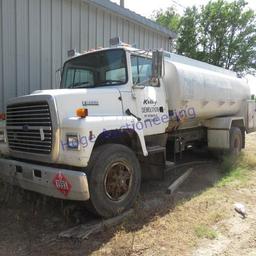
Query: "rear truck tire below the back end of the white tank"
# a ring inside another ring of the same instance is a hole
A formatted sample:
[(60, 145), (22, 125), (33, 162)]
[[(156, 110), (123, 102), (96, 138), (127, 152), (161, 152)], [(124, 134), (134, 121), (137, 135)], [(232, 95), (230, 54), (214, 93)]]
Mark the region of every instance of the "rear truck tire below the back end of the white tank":
[(230, 129), (230, 155), (239, 155), (242, 150), (243, 137), (242, 132), (238, 127), (231, 127)]

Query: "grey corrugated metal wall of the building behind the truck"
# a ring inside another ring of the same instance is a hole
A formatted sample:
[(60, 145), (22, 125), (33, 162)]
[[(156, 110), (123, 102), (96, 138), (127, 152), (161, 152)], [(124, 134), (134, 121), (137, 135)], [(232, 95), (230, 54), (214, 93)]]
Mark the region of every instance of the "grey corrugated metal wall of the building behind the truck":
[(6, 101), (56, 87), (67, 51), (108, 47), (109, 39), (168, 49), (168, 36), (81, 0), (0, 0), (0, 111)]

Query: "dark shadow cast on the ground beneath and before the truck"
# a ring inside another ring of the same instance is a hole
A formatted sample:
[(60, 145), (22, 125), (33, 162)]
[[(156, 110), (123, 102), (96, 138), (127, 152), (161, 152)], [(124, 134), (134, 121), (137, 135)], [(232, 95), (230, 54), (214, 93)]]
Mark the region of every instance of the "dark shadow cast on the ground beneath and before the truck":
[[(168, 186), (188, 167), (169, 171), (164, 181), (144, 182), (135, 213), (124, 221), (122, 229), (126, 232), (140, 230), (222, 177), (219, 163), (207, 154), (188, 152), (183, 161), (191, 160), (211, 160), (212, 163), (194, 166), (190, 178), (172, 196), (166, 193)], [(0, 182), (0, 255), (89, 255), (110, 241), (120, 227), (104, 230), (85, 241), (59, 240), (57, 235), (75, 225), (95, 221), (95, 218), (83, 203), (55, 200)], [(120, 248), (117, 255), (125, 254)]]

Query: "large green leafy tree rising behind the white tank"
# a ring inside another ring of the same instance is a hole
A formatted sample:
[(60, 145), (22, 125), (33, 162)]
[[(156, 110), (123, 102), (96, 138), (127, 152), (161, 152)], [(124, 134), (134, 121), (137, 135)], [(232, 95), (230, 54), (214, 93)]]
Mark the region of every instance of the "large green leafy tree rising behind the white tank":
[[(156, 21), (172, 29), (167, 14), (158, 13)], [(175, 13), (170, 17), (172, 21)], [(187, 8), (176, 31), (177, 53), (239, 73), (255, 73), (256, 15), (244, 0)]]

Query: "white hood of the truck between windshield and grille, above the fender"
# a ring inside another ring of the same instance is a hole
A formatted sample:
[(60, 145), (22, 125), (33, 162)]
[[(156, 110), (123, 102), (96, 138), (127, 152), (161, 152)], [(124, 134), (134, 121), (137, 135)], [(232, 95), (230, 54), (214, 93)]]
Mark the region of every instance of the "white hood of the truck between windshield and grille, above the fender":
[(35, 91), (33, 95), (52, 96), (60, 120), (76, 116), (78, 108), (87, 108), (89, 116), (123, 115), (121, 95), (116, 88), (45, 90)]

